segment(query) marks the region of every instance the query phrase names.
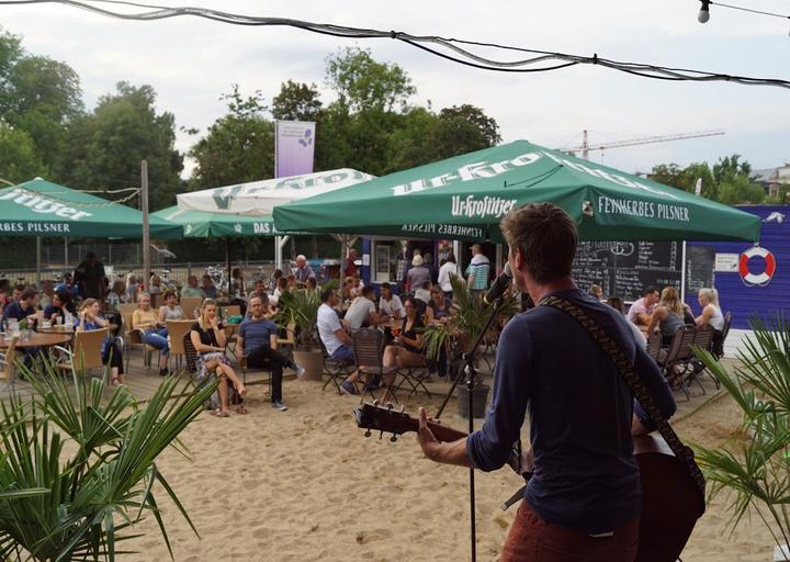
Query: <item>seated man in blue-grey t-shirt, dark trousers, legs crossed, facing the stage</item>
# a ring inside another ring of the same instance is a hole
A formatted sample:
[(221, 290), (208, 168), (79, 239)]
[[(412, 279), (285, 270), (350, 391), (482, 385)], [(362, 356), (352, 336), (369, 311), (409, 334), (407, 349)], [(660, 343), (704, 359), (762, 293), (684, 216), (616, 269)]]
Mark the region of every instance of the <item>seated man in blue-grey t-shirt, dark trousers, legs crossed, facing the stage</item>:
[(239, 326), (236, 338), (236, 352), (246, 358), (247, 367), (268, 369), (272, 381), (272, 408), (285, 412), (287, 406), (282, 402), (282, 369), (287, 367), (296, 371), (296, 376), (304, 374), (304, 368), (276, 350), (278, 326), (267, 318), (268, 305), (260, 296), (249, 300), (249, 318)]

